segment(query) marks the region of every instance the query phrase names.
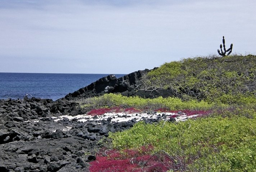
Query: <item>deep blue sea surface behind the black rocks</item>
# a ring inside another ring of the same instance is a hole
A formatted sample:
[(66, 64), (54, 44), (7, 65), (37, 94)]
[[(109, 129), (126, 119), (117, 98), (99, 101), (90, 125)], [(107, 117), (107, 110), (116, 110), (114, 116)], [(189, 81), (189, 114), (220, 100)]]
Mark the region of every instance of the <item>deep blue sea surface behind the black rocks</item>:
[[(0, 73), (0, 99), (57, 100), (109, 74)], [(116, 78), (125, 74), (115, 74)]]

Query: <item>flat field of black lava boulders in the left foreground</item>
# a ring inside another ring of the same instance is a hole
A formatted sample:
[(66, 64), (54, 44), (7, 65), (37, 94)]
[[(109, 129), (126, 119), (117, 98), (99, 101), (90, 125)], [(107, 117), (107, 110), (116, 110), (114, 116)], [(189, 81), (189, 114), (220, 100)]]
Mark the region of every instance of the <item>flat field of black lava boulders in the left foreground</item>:
[[(0, 171), (61, 172), (88, 171), (95, 159), (100, 139), (109, 132), (131, 128), (135, 119), (123, 122), (97, 119), (81, 122), (77, 118), (51, 113), (49, 99), (0, 100)], [(59, 102), (60, 103), (60, 102)], [(63, 102), (62, 104), (67, 104)], [(67, 110), (64, 106), (63, 113)], [(59, 117), (60, 118), (60, 117)], [(127, 116), (123, 116), (127, 118)], [(143, 118), (147, 123), (166, 118)]]

